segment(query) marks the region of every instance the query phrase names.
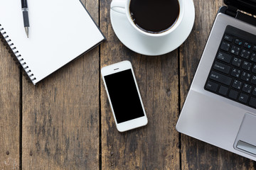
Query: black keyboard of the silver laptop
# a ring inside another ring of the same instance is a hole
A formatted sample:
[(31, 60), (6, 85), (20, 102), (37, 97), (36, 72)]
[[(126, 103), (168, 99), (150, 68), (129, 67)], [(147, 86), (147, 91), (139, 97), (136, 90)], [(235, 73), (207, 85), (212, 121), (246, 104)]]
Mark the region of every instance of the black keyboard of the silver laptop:
[(256, 108), (256, 35), (227, 26), (204, 89)]

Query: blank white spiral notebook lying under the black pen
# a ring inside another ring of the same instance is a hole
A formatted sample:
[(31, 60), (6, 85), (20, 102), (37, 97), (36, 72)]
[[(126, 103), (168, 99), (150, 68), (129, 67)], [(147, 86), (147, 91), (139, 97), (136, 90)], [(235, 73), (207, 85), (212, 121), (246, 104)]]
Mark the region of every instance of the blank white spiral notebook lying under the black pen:
[(28, 10), (29, 38), (21, 1), (1, 0), (0, 35), (33, 84), (105, 40), (79, 0), (28, 0)]

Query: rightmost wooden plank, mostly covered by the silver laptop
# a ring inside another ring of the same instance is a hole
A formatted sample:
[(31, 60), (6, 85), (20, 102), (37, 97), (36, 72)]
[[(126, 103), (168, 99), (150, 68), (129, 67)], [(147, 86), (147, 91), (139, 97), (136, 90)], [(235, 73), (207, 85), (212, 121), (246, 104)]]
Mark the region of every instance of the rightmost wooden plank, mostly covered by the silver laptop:
[[(222, 0), (194, 1), (196, 21), (188, 40), (181, 47), (181, 106), (198, 67), (198, 62), (206, 45), (215, 15)], [(182, 169), (255, 169), (255, 162), (232, 154), (218, 147), (206, 144), (192, 137), (181, 135)]]

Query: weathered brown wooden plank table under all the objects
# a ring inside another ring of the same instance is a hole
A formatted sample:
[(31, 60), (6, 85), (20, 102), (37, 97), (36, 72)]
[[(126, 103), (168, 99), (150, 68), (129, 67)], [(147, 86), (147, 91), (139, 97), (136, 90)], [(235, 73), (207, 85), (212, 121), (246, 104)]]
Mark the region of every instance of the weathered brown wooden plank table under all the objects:
[[(111, 0), (82, 2), (107, 41), (38, 85), (26, 81), (0, 43), (0, 169), (256, 169), (249, 159), (175, 130), (221, 0), (194, 0), (191, 35), (158, 57), (117, 39)], [(122, 60), (133, 64), (149, 123), (119, 133), (100, 68)]]

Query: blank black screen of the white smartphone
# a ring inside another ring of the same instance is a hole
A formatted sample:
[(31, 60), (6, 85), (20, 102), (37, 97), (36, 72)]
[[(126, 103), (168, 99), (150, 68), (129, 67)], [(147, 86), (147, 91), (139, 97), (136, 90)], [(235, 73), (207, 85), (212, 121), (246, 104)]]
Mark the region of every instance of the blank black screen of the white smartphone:
[(144, 116), (132, 69), (104, 77), (117, 123)]

